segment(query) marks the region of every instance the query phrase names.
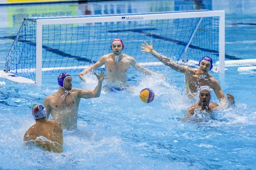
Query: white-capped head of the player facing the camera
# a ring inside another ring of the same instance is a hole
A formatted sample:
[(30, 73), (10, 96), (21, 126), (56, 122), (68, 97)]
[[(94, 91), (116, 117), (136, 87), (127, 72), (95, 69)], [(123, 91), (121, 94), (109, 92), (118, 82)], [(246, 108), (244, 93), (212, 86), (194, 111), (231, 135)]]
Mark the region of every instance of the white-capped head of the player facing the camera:
[(208, 85), (201, 86), (198, 90), (198, 94), (201, 104), (207, 106), (212, 98), (212, 88)]

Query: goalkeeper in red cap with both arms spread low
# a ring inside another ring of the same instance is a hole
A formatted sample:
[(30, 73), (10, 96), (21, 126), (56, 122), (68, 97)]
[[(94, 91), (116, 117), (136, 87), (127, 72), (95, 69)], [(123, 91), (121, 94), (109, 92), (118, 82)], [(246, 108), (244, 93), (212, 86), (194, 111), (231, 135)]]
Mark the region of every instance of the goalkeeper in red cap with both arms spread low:
[(137, 63), (134, 57), (123, 54), (122, 51), (124, 47), (125, 45), (121, 39), (114, 39), (110, 45), (112, 53), (102, 56), (93, 66), (90, 66), (89, 68), (86, 68), (84, 71), (82, 71), (79, 74), (79, 78), (82, 81), (85, 81), (85, 74), (100, 68), (102, 65), (105, 65), (108, 82), (118, 82), (117, 84), (115, 83), (116, 87), (119, 87), (119, 85), (122, 85), (123, 87), (123, 85), (125, 85), (127, 71), (130, 66), (144, 74), (155, 74), (154, 72), (144, 68), (139, 63)]

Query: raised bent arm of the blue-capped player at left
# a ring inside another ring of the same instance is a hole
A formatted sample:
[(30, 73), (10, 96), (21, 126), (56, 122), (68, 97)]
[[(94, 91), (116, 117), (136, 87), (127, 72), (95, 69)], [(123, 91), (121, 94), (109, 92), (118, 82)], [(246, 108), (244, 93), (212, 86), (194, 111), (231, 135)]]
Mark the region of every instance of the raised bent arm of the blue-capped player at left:
[(102, 90), (102, 81), (104, 79), (107, 79), (107, 78), (104, 75), (103, 71), (101, 71), (100, 74), (96, 74), (96, 73), (94, 73), (94, 74), (98, 78), (98, 85), (96, 86), (96, 88), (93, 91), (79, 89), (78, 96), (80, 98), (90, 99), (90, 98), (94, 98), (94, 97), (99, 97), (100, 96), (100, 93), (101, 93), (101, 90)]

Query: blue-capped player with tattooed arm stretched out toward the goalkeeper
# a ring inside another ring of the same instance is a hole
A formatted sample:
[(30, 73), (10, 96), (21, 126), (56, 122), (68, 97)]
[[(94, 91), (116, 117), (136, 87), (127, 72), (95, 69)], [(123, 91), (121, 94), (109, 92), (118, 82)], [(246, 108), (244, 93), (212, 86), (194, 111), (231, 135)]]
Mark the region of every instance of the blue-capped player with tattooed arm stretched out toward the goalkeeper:
[(177, 62), (173, 61), (169, 57), (166, 57), (162, 54), (159, 54), (157, 51), (154, 51), (152, 42), (148, 45), (146, 42), (142, 44), (142, 52), (147, 52), (156, 57), (160, 62), (163, 62), (164, 65), (169, 66), (170, 68), (185, 74), (186, 82), (186, 94), (190, 97), (195, 97), (198, 94), (198, 88), (203, 85), (208, 85), (212, 88), (218, 97), (218, 99), (224, 104), (226, 103), (226, 98), (221, 90), (221, 86), (217, 79), (215, 79), (209, 71), (213, 67), (212, 58), (209, 56), (203, 57), (199, 61), (199, 68), (191, 68), (188, 65), (180, 65)]

